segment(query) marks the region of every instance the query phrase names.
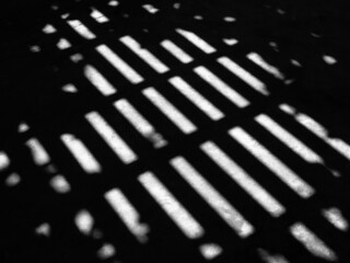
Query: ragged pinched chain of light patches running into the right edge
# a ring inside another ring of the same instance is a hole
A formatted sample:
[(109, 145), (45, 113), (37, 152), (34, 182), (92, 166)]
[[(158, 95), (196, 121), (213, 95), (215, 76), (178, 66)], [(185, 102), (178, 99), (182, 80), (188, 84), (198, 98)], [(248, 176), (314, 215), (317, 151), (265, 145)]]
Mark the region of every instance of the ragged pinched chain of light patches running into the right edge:
[(345, 142), (342, 139), (339, 138), (329, 138), (328, 137), (328, 130), (323, 127), (319, 123), (317, 123), (312, 117), (307, 116), (303, 113), (296, 113), (295, 108), (291, 107), (287, 104), (281, 104), (280, 110), (283, 112), (294, 115), (295, 119), (303, 125), (305, 128), (307, 128), (310, 132), (315, 134), (317, 137), (319, 137), (322, 140), (324, 140), (326, 144), (328, 144), (330, 147), (332, 147), (335, 150), (337, 150), (339, 153), (341, 153), (345, 158), (350, 160), (350, 146)]

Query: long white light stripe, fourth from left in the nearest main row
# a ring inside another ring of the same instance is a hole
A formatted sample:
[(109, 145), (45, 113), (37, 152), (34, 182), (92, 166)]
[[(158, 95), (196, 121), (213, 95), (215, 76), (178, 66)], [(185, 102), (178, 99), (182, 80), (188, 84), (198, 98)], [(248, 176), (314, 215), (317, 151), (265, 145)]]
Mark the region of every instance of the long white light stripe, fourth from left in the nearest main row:
[(235, 163), (225, 152), (211, 141), (200, 148), (212, 159), (232, 180), (244, 188), (262, 208), (273, 217), (279, 217), (285, 208), (272, 197), (261, 185)]

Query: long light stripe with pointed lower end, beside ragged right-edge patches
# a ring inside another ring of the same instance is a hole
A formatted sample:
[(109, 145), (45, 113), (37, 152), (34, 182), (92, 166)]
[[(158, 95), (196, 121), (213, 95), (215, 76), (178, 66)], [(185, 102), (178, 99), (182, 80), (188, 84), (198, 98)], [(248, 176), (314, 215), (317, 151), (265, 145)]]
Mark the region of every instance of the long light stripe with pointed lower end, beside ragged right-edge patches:
[(324, 163), (323, 159), (310, 149), (306, 145), (295, 138), (292, 134), (281, 127), (268, 115), (260, 114), (255, 117), (255, 121), (259, 123), (264, 128), (269, 130), (275, 137), (284, 142), (291, 150), (298, 153), (305, 161), (311, 163)]

